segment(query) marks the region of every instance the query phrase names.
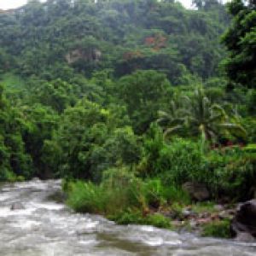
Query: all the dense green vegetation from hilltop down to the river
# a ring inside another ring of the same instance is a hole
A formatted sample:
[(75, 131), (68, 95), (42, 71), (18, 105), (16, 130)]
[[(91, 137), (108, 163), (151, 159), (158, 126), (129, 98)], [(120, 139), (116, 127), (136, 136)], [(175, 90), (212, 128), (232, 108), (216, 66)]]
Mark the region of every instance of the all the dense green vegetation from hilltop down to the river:
[(231, 23), (217, 0), (193, 4), (1, 11), (0, 181), (62, 177), (76, 211), (168, 228), (160, 212), (190, 202), (183, 183), (206, 185), (212, 200), (251, 198), (255, 4), (228, 4)]

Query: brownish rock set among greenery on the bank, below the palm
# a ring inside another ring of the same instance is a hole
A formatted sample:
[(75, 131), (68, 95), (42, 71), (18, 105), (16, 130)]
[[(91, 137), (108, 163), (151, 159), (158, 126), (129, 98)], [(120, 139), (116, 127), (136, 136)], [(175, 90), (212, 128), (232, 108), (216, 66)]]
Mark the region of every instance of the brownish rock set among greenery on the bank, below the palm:
[(196, 201), (205, 201), (210, 197), (207, 187), (201, 183), (184, 183), (183, 190), (188, 192), (190, 197)]

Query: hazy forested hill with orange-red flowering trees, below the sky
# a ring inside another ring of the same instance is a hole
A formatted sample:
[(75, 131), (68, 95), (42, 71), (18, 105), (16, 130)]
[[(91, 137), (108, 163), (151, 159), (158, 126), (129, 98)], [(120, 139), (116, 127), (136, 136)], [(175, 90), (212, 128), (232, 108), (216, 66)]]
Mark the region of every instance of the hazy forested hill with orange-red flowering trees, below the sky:
[(65, 79), (112, 69), (166, 73), (172, 84), (218, 74), (220, 35), (230, 20), (217, 0), (184, 9), (173, 0), (29, 1), (0, 12), (0, 69), (23, 77)]

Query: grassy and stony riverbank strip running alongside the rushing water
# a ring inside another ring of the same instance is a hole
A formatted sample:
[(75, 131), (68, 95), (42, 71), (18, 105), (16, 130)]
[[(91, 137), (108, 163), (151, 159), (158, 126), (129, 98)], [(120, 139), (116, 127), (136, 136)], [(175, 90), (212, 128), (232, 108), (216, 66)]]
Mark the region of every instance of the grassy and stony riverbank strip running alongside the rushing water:
[(102, 214), (117, 224), (147, 224), (199, 236), (231, 237), (230, 221), (236, 204), (191, 202), (189, 195), (177, 188), (169, 191), (171, 202), (161, 197), (167, 192), (160, 184), (158, 191), (154, 190), (156, 181), (131, 183), (111, 189), (109, 184), (65, 183), (67, 205), (76, 212)]

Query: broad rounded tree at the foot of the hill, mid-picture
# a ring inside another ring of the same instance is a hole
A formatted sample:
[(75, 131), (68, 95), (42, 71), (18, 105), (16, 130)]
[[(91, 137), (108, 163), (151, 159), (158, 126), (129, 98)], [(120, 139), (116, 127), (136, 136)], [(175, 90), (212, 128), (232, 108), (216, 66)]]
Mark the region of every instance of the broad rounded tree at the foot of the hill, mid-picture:
[(127, 106), (137, 133), (147, 131), (171, 89), (166, 75), (154, 70), (137, 71), (119, 80), (119, 98)]

